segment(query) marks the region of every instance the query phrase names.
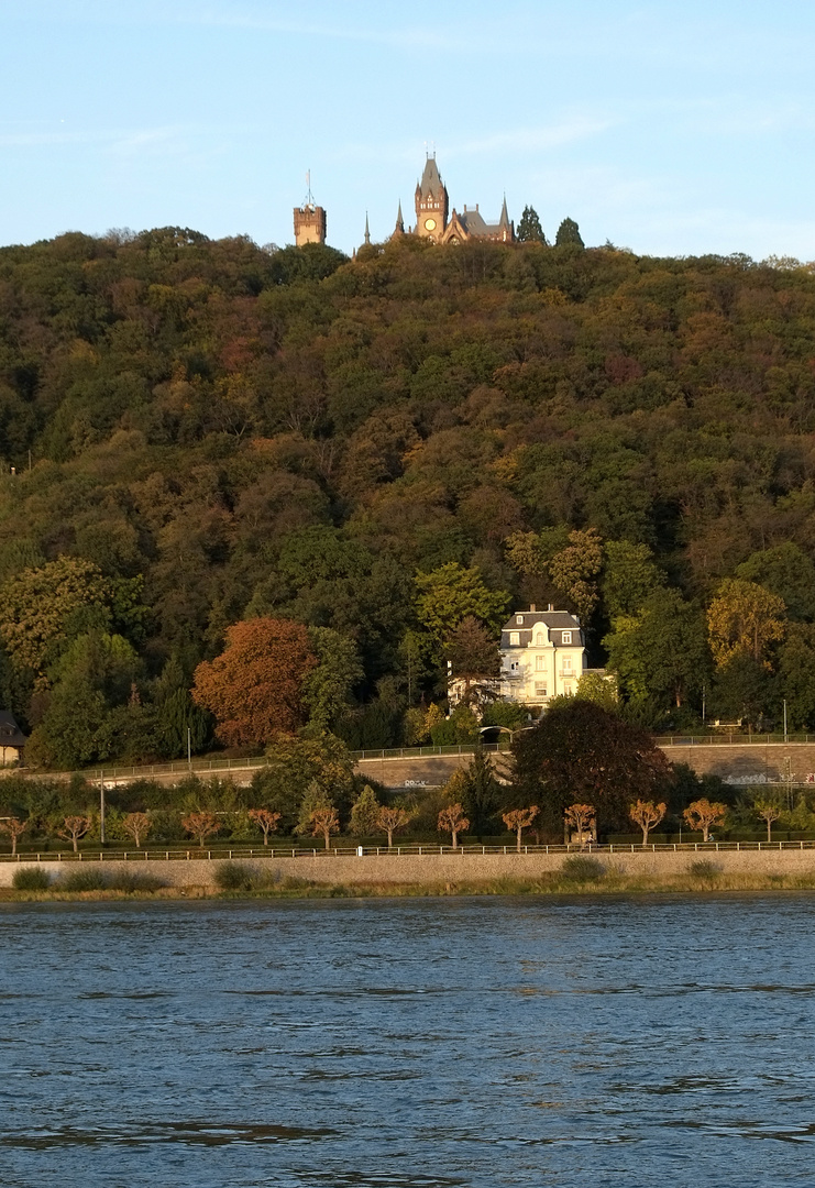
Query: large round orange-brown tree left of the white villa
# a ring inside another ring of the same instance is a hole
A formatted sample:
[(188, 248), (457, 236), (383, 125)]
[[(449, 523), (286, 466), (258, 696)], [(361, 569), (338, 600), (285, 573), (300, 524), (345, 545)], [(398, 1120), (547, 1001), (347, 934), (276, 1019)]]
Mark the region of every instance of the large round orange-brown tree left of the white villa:
[(192, 699), (215, 715), (228, 746), (271, 742), (303, 725), (303, 680), (316, 664), (301, 623), (248, 619), (227, 628), (220, 656), (198, 664)]

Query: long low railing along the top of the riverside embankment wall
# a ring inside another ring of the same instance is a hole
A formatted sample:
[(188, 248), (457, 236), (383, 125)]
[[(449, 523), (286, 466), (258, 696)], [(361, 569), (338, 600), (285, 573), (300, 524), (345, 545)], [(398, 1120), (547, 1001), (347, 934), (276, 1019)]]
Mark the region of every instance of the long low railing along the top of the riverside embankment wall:
[(614, 842), (580, 846), (333, 846), (330, 849), (297, 846), (233, 847), (232, 849), (119, 849), (119, 851), (42, 851), (39, 853), (0, 854), (0, 862), (129, 862), (129, 861), (225, 861), (236, 858), (400, 858), (460, 855), (461, 858), (485, 854), (669, 854), (669, 853), (719, 853), (725, 851), (785, 851), (815, 849), (815, 839), (808, 841), (680, 841), (636, 845)]

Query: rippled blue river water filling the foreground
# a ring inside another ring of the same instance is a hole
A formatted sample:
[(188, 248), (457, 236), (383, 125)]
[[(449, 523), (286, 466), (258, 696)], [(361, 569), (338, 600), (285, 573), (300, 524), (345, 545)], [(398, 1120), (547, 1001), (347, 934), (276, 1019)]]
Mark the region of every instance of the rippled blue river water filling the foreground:
[(0, 1183), (815, 1183), (815, 899), (5, 905)]

